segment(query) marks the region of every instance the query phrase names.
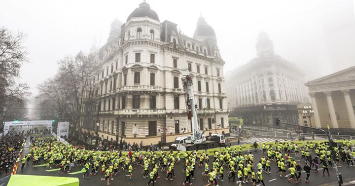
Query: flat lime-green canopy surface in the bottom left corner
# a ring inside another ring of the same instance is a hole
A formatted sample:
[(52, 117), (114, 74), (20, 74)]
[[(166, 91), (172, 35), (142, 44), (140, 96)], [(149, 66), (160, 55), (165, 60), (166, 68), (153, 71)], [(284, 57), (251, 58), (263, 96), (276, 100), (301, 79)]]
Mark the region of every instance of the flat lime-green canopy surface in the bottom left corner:
[(78, 178), (12, 175), (7, 186), (79, 186)]

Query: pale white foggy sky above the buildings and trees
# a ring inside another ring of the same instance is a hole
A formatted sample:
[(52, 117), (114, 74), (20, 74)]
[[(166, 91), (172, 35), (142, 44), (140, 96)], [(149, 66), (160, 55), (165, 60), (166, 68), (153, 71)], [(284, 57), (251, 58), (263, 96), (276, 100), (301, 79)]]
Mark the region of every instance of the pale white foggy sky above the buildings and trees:
[[(36, 85), (57, 71), (57, 61), (79, 50), (89, 52), (94, 40), (105, 44), (114, 18), (126, 22), (142, 0), (7, 0), (0, 6), (0, 26), (28, 35), (31, 63), (22, 81)], [(276, 54), (295, 63), (312, 80), (355, 65), (353, 0), (147, 0), (161, 22), (178, 24), (192, 37), (197, 19), (214, 28), (224, 73), (256, 56), (263, 30)]]

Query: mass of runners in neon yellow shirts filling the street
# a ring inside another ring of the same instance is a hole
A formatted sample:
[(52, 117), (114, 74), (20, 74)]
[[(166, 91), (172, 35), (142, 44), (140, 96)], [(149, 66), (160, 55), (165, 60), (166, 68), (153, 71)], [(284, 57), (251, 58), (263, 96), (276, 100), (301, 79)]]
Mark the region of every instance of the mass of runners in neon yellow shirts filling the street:
[[(336, 163), (341, 161), (348, 166), (353, 165), (355, 150), (352, 151), (351, 146), (350, 141), (344, 141), (342, 147), (335, 148)], [(253, 152), (243, 152), (241, 146), (222, 148), (221, 152), (214, 151), (212, 156), (196, 151), (129, 151), (126, 155), (120, 150), (80, 149), (56, 141), (55, 138), (37, 137), (30, 152), (22, 159), (21, 168), (29, 161), (32, 161), (32, 165), (48, 163), (49, 168), (60, 168), (59, 173), (64, 174), (70, 172), (73, 166), (83, 166), (83, 178), (100, 174), (103, 175), (101, 180), (106, 180), (107, 185), (119, 175), (121, 179), (129, 180), (144, 178), (147, 179), (147, 186), (154, 186), (161, 177), (163, 181), (176, 179), (175, 166), (183, 163), (186, 177), (178, 179), (184, 186), (193, 185), (195, 175), (201, 173), (203, 179), (208, 181), (207, 186), (217, 186), (225, 180), (265, 186), (263, 174), (280, 174), (288, 182), (297, 184), (304, 179), (308, 183), (311, 173), (318, 174), (320, 166), (323, 168), (321, 174), (330, 176), (328, 167), (332, 168), (334, 164), (329, 146), (325, 143), (307, 142), (305, 147), (298, 147), (293, 142), (275, 142), (271, 145), (262, 144), (261, 149), (264, 155), (260, 159), (254, 159)], [(278, 170), (271, 170), (272, 164)], [(133, 175), (133, 169), (142, 169), (142, 175)], [(306, 175), (302, 176), (302, 170)], [(120, 172), (124, 172), (124, 176)], [(162, 179), (159, 181), (163, 182)]]

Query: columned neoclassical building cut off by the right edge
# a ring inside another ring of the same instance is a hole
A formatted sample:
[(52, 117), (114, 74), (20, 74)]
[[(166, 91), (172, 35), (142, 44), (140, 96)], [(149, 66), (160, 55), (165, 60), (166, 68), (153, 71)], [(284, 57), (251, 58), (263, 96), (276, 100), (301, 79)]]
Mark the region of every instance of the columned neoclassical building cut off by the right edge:
[[(354, 134), (355, 67), (305, 83), (309, 88), (316, 127)], [(349, 129), (352, 130), (349, 130)]]

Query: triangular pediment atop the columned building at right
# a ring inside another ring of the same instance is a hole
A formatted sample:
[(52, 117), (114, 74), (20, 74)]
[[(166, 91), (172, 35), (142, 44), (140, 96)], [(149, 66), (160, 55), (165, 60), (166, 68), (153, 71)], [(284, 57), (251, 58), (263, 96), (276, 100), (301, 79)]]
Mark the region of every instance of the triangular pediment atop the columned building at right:
[(337, 83), (343, 81), (355, 81), (355, 66), (309, 81), (306, 83), (306, 86), (324, 83)]

